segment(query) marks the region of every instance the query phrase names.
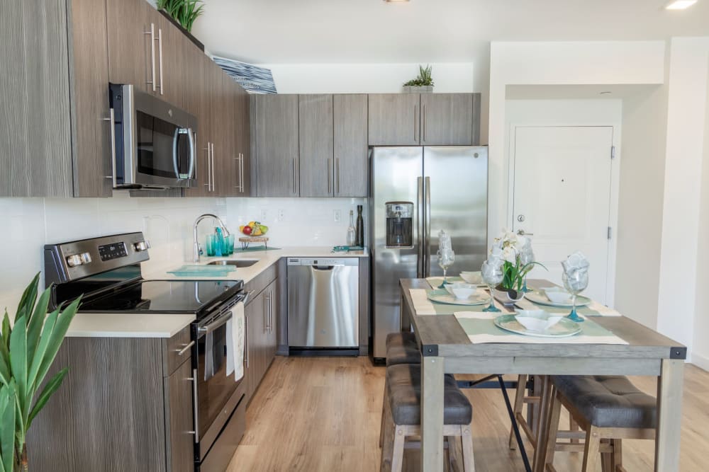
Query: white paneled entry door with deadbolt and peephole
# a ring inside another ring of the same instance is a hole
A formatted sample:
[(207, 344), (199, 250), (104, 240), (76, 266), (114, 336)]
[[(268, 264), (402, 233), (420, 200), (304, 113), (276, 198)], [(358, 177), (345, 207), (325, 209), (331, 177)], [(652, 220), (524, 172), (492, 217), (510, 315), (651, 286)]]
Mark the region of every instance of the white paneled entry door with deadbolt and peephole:
[(586, 255), (588, 297), (606, 303), (613, 127), (515, 127), (513, 230), (532, 238), (539, 277), (562, 284), (561, 261)]

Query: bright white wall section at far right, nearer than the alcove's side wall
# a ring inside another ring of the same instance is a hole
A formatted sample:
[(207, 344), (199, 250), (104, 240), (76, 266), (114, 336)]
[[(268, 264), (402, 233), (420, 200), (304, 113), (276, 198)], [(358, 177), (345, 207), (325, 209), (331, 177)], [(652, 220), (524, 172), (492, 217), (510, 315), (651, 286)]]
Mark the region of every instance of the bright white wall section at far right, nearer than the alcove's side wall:
[(696, 274), (706, 269), (697, 251), (708, 66), (709, 38), (671, 40), (657, 328), (690, 352), (695, 312), (703, 309)]

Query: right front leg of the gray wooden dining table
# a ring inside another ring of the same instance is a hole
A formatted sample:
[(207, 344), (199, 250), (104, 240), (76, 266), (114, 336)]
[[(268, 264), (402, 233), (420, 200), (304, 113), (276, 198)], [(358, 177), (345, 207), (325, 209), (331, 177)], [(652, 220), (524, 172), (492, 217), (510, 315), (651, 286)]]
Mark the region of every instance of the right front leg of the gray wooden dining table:
[(657, 378), (655, 471), (679, 471), (683, 375), (683, 359), (662, 359), (661, 374)]

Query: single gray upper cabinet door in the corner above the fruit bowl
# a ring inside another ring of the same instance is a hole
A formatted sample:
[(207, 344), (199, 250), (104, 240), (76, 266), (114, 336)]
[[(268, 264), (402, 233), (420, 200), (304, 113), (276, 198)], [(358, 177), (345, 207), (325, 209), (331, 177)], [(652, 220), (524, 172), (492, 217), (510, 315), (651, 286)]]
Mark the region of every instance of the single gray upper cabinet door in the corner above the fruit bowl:
[(298, 96), (252, 96), (257, 196), (297, 197)]

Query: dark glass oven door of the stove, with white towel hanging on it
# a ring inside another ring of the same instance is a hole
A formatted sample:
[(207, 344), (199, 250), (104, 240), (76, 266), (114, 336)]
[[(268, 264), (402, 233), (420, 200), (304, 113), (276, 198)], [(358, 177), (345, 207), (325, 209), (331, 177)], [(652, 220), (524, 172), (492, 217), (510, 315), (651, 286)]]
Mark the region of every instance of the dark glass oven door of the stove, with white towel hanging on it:
[[(238, 301), (246, 302), (247, 295), (242, 292), (235, 299), (220, 307), (214, 316), (208, 316), (202, 323), (192, 326), (192, 336), (196, 339), (196, 398), (195, 425), (197, 461), (201, 461), (212, 447), (225, 423), (231, 417), (236, 405), (241, 400), (242, 383), (234, 380), (233, 372), (226, 374), (227, 345), (230, 343), (227, 322), (231, 319), (231, 308)], [(241, 395), (237, 393), (241, 392)]]

